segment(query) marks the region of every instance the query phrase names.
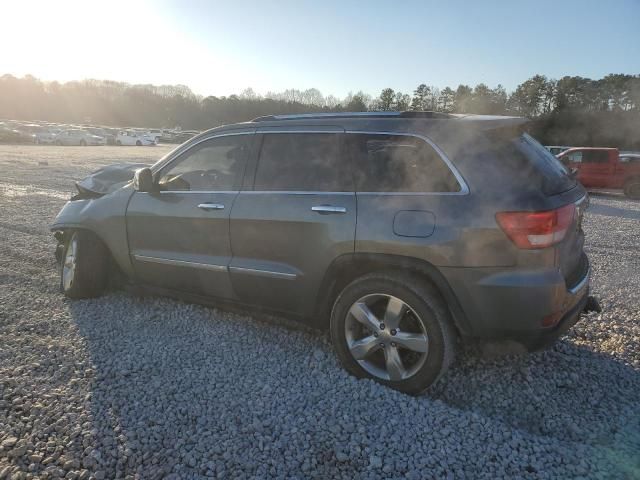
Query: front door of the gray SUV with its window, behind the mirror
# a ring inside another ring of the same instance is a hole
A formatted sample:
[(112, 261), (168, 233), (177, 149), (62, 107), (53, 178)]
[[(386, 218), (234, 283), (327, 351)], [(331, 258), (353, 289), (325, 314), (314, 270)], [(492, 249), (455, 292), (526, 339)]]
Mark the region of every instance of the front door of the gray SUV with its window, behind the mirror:
[(229, 214), (252, 138), (233, 134), (199, 142), (156, 172), (157, 192), (134, 193), (127, 208), (127, 235), (141, 281), (232, 297)]

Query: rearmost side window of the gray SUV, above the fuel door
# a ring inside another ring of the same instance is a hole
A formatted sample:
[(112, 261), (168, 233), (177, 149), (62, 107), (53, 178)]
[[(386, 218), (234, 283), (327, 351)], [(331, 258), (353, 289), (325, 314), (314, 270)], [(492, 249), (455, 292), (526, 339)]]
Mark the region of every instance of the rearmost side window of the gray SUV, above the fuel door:
[(359, 192), (459, 192), (460, 184), (440, 155), (408, 135), (349, 134)]

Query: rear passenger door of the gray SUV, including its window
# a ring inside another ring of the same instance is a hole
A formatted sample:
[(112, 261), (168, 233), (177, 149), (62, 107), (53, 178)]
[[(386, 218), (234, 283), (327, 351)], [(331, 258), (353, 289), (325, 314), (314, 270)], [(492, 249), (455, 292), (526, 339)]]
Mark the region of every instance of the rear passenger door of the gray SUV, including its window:
[(254, 181), (231, 212), (234, 291), (306, 315), (332, 261), (352, 253), (356, 202), (341, 128), (260, 129)]

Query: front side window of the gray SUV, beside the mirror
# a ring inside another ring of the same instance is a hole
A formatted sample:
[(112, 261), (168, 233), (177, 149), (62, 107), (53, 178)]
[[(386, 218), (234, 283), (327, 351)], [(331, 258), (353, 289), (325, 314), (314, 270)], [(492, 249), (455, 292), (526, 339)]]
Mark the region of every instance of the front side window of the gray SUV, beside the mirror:
[(206, 140), (183, 153), (162, 172), (161, 190), (235, 190), (240, 188), (252, 135)]

